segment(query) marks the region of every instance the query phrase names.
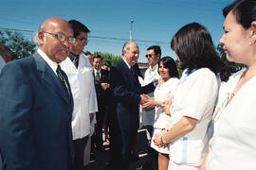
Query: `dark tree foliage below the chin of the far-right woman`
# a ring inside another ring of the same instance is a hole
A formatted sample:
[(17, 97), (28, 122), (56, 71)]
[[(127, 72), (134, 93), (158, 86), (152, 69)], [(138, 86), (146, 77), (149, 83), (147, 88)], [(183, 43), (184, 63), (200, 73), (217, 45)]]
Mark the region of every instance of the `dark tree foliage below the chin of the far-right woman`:
[(226, 57), (226, 53), (223, 49), (222, 43), (219, 43), (217, 45), (217, 52), (220, 56), (220, 59), (231, 69), (231, 72), (234, 73), (234, 72), (237, 72), (237, 71), (241, 70), (242, 68), (246, 67), (245, 64), (230, 62)]

